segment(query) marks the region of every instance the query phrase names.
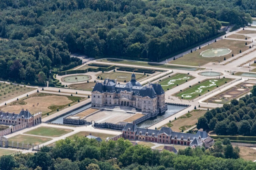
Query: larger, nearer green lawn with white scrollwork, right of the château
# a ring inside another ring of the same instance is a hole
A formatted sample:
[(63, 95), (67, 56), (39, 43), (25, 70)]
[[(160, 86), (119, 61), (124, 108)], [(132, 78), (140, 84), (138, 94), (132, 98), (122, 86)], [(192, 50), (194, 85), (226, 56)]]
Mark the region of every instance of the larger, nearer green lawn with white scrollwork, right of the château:
[(201, 95), (207, 93), (208, 90), (211, 91), (213, 89), (216, 89), (216, 88), (222, 86), (223, 84), (225, 84), (225, 82), (228, 83), (231, 80), (232, 79), (229, 79), (229, 78), (207, 79), (201, 83), (197, 83), (196, 85), (193, 85), (192, 87), (185, 89), (185, 91), (182, 91), (182, 92), (180, 92), (178, 94), (174, 94), (174, 95), (179, 98), (186, 99), (186, 100), (192, 100), (196, 97), (199, 97), (199, 95), (201, 96)]

